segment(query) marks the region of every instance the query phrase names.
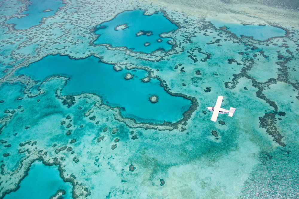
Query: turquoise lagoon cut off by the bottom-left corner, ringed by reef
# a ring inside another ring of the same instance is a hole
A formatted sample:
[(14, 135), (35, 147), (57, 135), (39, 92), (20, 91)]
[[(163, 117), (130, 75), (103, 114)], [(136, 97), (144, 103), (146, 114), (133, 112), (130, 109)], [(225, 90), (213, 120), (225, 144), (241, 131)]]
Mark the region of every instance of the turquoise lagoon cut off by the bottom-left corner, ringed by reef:
[(35, 161), (20, 183), (19, 189), (5, 195), (4, 199), (15, 198), (50, 198), (58, 190), (63, 189), (62, 198), (72, 198), (72, 186), (60, 178), (57, 166), (45, 166), (41, 161)]

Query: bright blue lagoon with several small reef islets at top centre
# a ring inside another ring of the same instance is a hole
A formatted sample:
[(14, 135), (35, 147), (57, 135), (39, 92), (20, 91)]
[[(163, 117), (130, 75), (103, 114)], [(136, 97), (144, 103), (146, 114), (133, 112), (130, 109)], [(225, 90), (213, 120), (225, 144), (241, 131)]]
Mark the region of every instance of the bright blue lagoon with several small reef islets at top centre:
[[(161, 38), (159, 34), (176, 30), (178, 27), (171, 23), (162, 12), (153, 15), (143, 15), (144, 10), (124, 11), (111, 21), (106, 21), (97, 26), (95, 34), (100, 36), (94, 41), (94, 44), (110, 44), (112, 47), (127, 47), (133, 51), (151, 53), (154, 50), (163, 48), (170, 50), (172, 46), (167, 43), (171, 38)], [(115, 30), (118, 25), (128, 26), (123, 30)], [(103, 27), (103, 28), (100, 28)], [(139, 31), (152, 31), (150, 36), (137, 36)], [(162, 39), (158, 42), (157, 39)], [(149, 42), (149, 46), (144, 46)]]

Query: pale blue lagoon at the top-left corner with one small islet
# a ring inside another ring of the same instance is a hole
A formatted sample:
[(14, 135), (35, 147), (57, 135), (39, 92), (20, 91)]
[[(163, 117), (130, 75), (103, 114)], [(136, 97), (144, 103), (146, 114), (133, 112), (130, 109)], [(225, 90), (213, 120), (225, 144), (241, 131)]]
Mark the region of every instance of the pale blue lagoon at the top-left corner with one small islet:
[[(11, 18), (7, 20), (6, 24), (16, 24), (15, 29), (24, 30), (32, 26), (36, 26), (42, 21), (43, 17), (49, 17), (54, 15), (59, 7), (64, 6), (62, 0), (30, 0), (31, 4), (27, 6), (26, 11), (20, 13), (23, 16), (21, 18)], [(51, 9), (51, 11), (43, 12), (44, 10)]]

